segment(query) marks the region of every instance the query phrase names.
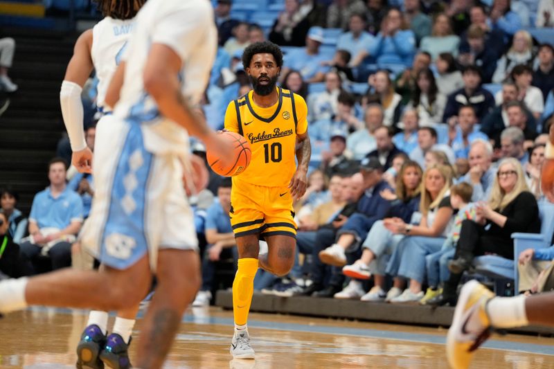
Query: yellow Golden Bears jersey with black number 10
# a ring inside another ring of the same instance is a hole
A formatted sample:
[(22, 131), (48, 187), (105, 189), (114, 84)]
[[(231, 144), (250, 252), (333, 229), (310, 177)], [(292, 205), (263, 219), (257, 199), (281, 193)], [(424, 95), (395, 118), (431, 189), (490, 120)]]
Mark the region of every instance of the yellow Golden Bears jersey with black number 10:
[(296, 134), (307, 130), (307, 107), (302, 96), (278, 90), (278, 101), (267, 108), (258, 107), (250, 91), (229, 103), (225, 129), (237, 132), (250, 143), (252, 159), (247, 170), (233, 181), (258, 186), (288, 186), (296, 170)]

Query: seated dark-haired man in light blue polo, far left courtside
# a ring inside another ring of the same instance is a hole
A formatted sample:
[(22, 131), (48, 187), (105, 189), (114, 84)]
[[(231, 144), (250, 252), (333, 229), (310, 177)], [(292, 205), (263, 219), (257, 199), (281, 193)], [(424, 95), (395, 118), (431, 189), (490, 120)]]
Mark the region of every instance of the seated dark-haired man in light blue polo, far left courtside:
[(42, 254), (51, 259), (52, 269), (71, 265), (71, 243), (82, 224), (82, 200), (66, 186), (66, 164), (52, 159), (48, 167), (50, 186), (35, 195), (29, 216), (28, 240), (20, 248), (29, 260)]

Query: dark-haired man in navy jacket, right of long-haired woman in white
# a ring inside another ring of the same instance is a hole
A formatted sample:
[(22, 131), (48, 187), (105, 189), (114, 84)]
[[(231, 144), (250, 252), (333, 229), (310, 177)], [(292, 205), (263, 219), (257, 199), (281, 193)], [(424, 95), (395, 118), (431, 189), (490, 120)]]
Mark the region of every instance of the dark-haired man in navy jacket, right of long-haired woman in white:
[(485, 118), (494, 107), (492, 93), (481, 87), (481, 69), (478, 66), (468, 65), (463, 71), (463, 88), (454, 91), (448, 96), (443, 122), (456, 116), (462, 105), (472, 105), (479, 121)]

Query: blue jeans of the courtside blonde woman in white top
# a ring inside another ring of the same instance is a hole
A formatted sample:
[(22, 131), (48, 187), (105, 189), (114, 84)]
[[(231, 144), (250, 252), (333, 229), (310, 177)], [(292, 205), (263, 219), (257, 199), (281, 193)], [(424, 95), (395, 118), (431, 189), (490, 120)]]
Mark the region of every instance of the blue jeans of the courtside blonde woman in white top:
[[(397, 247), (397, 250), (402, 249), (397, 276), (422, 283), (427, 273), (425, 257), (440, 251), (444, 242), (444, 237), (404, 237), (404, 240)], [(403, 247), (401, 247), (402, 244)]]

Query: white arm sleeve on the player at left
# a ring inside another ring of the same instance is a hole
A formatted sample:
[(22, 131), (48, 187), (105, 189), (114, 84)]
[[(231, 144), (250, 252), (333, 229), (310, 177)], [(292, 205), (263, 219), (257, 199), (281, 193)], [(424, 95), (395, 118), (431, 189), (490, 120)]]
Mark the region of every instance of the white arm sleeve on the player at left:
[(84, 140), (83, 111), (81, 102), (82, 88), (75, 82), (62, 82), (60, 89), (60, 105), (62, 105), (62, 116), (64, 117), (65, 129), (69, 135), (69, 143), (73, 152), (83, 150), (87, 147)]

